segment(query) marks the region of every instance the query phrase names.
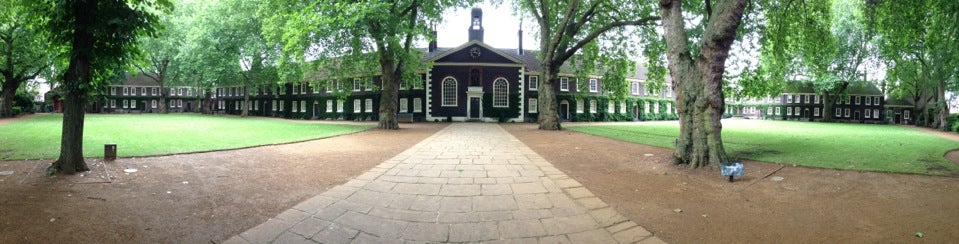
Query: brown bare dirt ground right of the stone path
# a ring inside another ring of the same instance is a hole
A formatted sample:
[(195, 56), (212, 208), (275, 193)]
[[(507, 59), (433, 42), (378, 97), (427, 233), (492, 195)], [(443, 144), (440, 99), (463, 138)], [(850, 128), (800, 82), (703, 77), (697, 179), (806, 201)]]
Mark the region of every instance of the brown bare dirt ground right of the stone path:
[[(746, 161), (746, 176), (729, 183), (718, 169), (673, 165), (669, 149), (571, 131), (539, 131), (529, 124), (504, 128), (670, 243), (959, 240), (955, 177)], [(916, 237), (917, 232), (923, 237)]]

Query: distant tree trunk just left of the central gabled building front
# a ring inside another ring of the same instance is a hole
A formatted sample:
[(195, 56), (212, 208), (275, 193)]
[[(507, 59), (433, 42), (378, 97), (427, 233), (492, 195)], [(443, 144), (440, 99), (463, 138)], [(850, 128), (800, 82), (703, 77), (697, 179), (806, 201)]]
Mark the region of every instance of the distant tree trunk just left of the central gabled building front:
[(384, 130), (398, 130), (399, 123), (396, 121), (396, 100), (399, 97), (399, 75), (402, 72), (397, 69), (396, 60), (392, 54), (386, 51), (380, 51), (380, 114), (379, 122), (376, 128)]

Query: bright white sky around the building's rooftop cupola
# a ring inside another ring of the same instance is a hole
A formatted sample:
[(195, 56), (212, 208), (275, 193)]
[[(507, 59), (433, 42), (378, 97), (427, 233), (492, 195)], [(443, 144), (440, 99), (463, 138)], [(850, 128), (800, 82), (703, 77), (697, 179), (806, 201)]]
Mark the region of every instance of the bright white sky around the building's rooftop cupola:
[[(517, 48), (520, 19), (513, 16), (511, 1), (504, 1), (499, 6), (492, 6), (489, 1), (475, 5), (483, 9), (483, 42), (496, 48)], [(447, 10), (443, 14), (443, 22), (437, 23), (437, 45), (440, 47), (457, 47), (469, 39), (470, 12), (472, 7)], [(539, 42), (533, 38), (535, 29), (533, 20), (523, 21), (523, 48), (539, 49)], [(426, 47), (421, 44), (420, 47)]]

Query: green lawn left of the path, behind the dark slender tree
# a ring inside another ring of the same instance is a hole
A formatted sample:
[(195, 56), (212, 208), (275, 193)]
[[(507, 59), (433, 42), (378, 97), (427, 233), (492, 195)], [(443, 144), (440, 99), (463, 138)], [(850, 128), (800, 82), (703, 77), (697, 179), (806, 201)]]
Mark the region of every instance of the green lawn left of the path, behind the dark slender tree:
[[(0, 125), (0, 160), (56, 159), (62, 122), (56, 114)], [(116, 143), (118, 156), (131, 157), (296, 142), (369, 128), (196, 114), (87, 114), (83, 155), (102, 157), (105, 143)]]

